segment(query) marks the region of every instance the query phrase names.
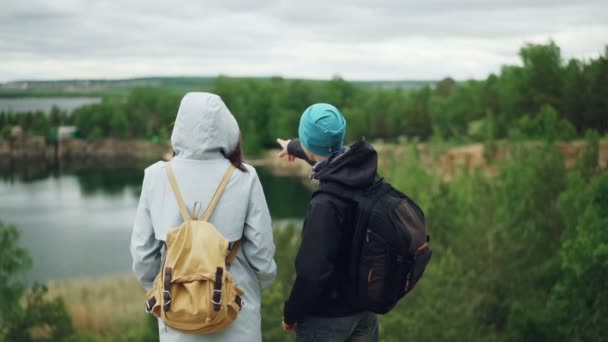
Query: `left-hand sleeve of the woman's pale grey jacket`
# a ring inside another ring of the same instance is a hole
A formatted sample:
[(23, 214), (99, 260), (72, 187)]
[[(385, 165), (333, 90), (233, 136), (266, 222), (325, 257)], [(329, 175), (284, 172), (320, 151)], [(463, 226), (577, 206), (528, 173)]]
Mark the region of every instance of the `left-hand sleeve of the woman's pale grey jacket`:
[(156, 240), (150, 217), (147, 194), (150, 176), (146, 170), (131, 234), (131, 257), (133, 272), (146, 291), (152, 289), (154, 278), (161, 267), (162, 242)]

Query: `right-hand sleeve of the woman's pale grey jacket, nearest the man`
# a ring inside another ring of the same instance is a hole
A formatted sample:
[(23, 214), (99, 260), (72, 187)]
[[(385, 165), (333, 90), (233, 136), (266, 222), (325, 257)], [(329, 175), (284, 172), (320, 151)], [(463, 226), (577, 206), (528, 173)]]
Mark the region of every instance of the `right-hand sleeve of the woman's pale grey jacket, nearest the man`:
[(275, 245), (272, 223), (266, 197), (255, 169), (250, 168), (254, 179), (249, 191), (249, 204), (243, 232), (243, 252), (256, 273), (262, 289), (270, 286), (277, 275), (274, 261)]

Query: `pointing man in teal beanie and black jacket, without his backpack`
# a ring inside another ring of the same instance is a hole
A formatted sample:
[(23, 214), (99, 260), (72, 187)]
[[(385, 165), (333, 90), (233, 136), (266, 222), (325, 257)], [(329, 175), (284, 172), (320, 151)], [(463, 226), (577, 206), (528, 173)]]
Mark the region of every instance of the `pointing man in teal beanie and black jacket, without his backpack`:
[(354, 228), (354, 202), (324, 192), (331, 184), (345, 190), (367, 188), (377, 175), (377, 154), (361, 139), (343, 147), (346, 120), (334, 106), (317, 103), (304, 111), (299, 139), (277, 139), (279, 157), (301, 158), (313, 165), (320, 182), (302, 227), (296, 257), (296, 281), (285, 302), (283, 327), (296, 341), (377, 341), (374, 313), (352, 306), (347, 277)]

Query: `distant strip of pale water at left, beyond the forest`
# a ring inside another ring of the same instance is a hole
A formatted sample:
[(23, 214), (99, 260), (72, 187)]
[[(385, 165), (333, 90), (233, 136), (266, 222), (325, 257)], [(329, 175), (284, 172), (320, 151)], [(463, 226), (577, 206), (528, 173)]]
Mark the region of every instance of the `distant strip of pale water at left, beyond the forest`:
[(53, 106), (68, 113), (74, 109), (101, 102), (100, 97), (19, 97), (0, 98), (0, 112), (35, 112), (49, 113)]

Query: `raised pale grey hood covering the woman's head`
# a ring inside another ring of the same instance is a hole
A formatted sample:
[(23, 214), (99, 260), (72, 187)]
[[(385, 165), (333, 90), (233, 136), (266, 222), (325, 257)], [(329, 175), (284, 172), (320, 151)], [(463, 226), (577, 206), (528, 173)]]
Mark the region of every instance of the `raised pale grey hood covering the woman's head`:
[(178, 157), (212, 159), (234, 151), (239, 135), (236, 119), (219, 96), (188, 93), (179, 105), (171, 145)]

